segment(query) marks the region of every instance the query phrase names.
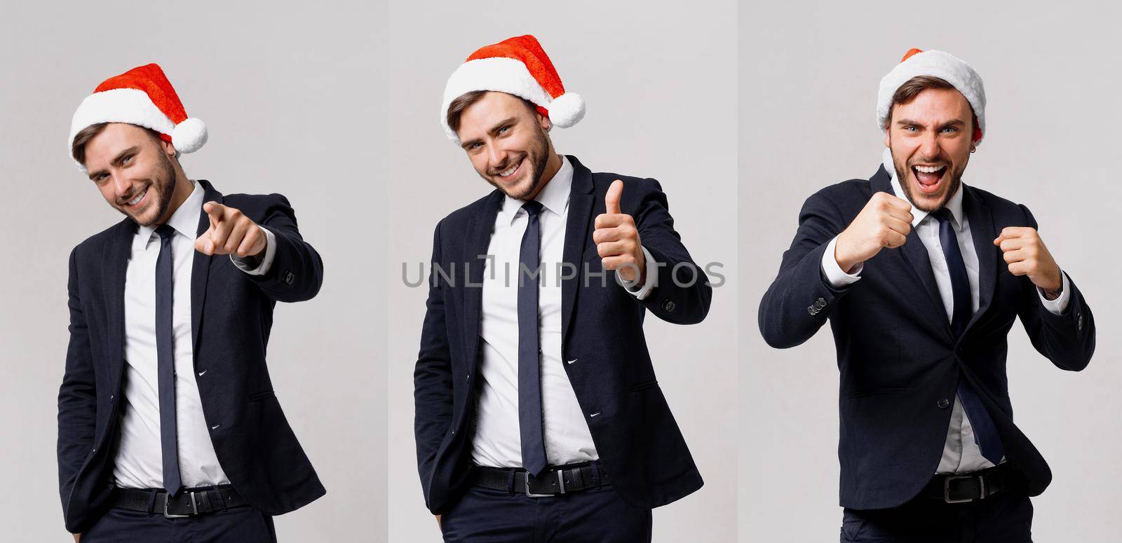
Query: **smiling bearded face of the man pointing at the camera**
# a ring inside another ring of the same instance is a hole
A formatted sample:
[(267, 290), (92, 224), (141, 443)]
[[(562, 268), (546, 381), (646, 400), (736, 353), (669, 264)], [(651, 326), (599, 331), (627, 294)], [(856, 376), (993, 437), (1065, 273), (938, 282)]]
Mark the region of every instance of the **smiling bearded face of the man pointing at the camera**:
[(141, 227), (166, 222), (191, 194), (172, 144), (135, 125), (105, 125), (85, 141), (82, 158), (109, 205)]

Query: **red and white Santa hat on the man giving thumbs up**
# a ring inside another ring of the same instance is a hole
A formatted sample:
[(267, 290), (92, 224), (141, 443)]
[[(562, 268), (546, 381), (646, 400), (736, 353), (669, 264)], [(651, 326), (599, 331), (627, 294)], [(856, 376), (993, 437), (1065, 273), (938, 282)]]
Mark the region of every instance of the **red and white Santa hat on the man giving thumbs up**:
[(481, 47), (456, 68), (444, 86), (440, 107), (440, 125), (448, 139), (460, 144), (456, 130), (448, 126), (448, 107), (471, 91), (502, 91), (524, 98), (537, 111), (550, 118), (553, 126), (569, 128), (585, 117), (585, 100), (565, 92), (550, 57), (537, 38), (526, 35), (504, 39)]

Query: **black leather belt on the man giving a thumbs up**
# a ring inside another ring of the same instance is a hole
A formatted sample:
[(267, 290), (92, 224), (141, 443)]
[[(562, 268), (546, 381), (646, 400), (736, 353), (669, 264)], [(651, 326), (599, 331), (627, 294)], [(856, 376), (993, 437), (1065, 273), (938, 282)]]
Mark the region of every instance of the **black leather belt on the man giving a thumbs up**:
[(578, 493), (608, 484), (608, 475), (598, 461), (546, 468), (539, 477), (521, 468), (476, 466), (473, 471), (472, 482), (476, 486), (511, 494), (522, 493), (531, 498)]

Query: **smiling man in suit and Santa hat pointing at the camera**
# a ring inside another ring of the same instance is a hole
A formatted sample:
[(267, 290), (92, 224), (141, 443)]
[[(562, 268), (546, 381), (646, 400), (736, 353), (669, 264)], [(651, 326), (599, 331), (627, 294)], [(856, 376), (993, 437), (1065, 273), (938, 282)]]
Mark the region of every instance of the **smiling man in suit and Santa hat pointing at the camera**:
[(274, 305), (313, 297), (322, 261), (284, 196), (187, 178), (178, 155), (205, 140), (156, 64), (74, 113), (74, 160), (126, 215), (70, 258), (58, 482), (75, 541), (276, 541), (272, 515), (324, 493), (265, 363)]

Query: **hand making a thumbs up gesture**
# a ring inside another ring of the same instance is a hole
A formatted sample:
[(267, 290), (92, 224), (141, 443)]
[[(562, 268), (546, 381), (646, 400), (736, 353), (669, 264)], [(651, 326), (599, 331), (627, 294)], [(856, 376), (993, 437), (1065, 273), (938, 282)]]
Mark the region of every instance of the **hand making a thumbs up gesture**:
[(615, 269), (626, 282), (644, 280), (646, 258), (638, 239), (638, 229), (632, 215), (619, 212), (619, 196), (624, 193), (624, 182), (616, 180), (604, 195), (605, 212), (596, 215), (592, 241), (600, 255), (604, 269)]

